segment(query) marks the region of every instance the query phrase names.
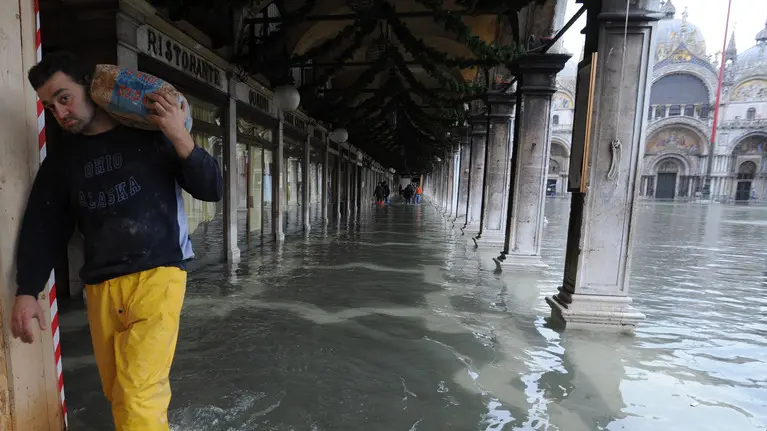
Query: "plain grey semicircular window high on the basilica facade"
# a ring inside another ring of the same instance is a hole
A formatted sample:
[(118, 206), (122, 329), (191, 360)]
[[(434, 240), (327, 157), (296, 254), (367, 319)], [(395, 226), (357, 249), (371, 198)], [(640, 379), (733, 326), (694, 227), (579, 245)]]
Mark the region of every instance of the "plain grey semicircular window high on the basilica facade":
[(669, 73), (654, 80), (650, 105), (708, 104), (711, 93), (706, 83), (692, 73)]

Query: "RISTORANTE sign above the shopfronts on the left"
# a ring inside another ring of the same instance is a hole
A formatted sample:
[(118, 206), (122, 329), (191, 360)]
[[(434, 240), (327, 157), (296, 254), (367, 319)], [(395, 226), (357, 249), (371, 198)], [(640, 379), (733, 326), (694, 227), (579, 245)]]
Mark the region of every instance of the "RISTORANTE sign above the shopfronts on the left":
[(227, 92), (226, 71), (202, 58), (193, 50), (158, 30), (142, 25), (138, 28), (138, 48), (141, 52), (193, 76), (208, 85)]

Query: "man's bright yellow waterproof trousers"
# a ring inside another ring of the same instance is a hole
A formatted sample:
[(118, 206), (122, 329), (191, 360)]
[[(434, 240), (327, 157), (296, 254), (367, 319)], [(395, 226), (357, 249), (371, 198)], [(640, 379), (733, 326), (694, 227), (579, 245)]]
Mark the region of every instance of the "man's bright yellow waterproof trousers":
[(86, 286), (101, 384), (116, 431), (168, 431), (168, 374), (186, 272), (159, 267)]

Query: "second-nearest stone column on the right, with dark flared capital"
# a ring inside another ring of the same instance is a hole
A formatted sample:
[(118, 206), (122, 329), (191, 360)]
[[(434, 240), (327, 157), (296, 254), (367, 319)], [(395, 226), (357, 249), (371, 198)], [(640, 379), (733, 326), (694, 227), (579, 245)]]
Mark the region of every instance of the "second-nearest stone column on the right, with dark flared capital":
[(517, 75), (514, 154), (505, 239), (500, 266), (546, 267), (541, 260), (543, 209), (551, 152), (551, 97), (567, 54), (528, 54), (513, 69)]

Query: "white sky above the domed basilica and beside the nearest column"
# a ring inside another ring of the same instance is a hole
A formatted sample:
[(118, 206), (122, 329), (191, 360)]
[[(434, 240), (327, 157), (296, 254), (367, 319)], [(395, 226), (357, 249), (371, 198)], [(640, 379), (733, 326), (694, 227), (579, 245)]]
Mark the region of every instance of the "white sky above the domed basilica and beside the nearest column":
[[(724, 25), (727, 18), (728, 0), (672, 0), (676, 7), (676, 17), (682, 18), (685, 6), (689, 9), (688, 21), (700, 28), (706, 38), (706, 51), (714, 54), (722, 50), (724, 37)], [(567, 22), (580, 8), (575, 0), (568, 0)], [(732, 0), (730, 12), (730, 30), (735, 30), (735, 43), (738, 52), (743, 52), (756, 43), (754, 37), (767, 21), (767, 1), (765, 0)], [(583, 49), (583, 35), (581, 29), (586, 25), (586, 16), (582, 16), (564, 36), (565, 49), (576, 58)], [(727, 36), (729, 40), (729, 35)]]

